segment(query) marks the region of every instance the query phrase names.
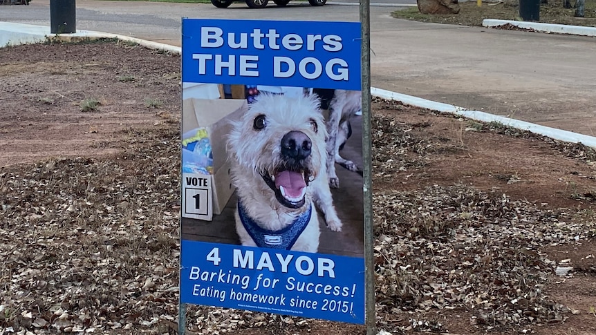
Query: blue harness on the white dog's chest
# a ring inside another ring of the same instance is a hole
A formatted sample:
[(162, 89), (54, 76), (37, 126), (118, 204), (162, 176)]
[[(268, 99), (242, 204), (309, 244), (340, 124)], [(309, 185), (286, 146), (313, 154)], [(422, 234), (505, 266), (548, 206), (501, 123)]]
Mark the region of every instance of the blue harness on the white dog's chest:
[(238, 200), (238, 215), (240, 216), (240, 220), (252, 240), (254, 240), (254, 242), (257, 243), (257, 247), (260, 248), (292, 249), (298, 236), (300, 236), (310, 221), (310, 214), (312, 211), (313, 205), (311, 204), (308, 207), (308, 211), (305, 211), (295, 218), (294, 222), (288, 227), (278, 231), (271, 231), (261, 228), (261, 226), (255, 223), (252, 218), (249, 218), (244, 206), (240, 200)]

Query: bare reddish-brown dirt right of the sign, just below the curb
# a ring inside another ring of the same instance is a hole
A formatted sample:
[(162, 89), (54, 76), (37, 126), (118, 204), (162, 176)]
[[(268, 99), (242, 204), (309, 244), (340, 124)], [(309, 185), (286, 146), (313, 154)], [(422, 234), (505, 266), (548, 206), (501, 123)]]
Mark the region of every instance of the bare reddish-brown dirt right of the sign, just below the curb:
[(478, 124), (468, 119), (412, 113), (402, 106), (377, 113), (397, 117), (411, 128), (412, 135), (444, 144), (435, 150), (438, 154), (427, 156), (427, 164), (419, 171), (385, 178), (387, 183), (378, 183), (379, 189), (462, 184), (483, 191), (499, 189), (514, 199), (554, 208), (594, 204), (593, 198), (582, 201), (577, 196), (595, 191), (594, 164), (575, 159), (575, 154), (561, 155), (561, 150), (539, 136), (512, 137), (498, 129), (478, 131)]

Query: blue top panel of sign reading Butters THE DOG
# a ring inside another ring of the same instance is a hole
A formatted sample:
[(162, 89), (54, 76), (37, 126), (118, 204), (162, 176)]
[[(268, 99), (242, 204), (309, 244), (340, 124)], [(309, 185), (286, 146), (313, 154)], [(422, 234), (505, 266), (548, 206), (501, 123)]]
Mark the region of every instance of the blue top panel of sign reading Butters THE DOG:
[(187, 83), (360, 90), (360, 22), (183, 19)]

